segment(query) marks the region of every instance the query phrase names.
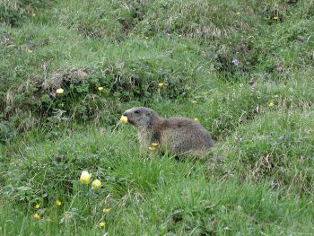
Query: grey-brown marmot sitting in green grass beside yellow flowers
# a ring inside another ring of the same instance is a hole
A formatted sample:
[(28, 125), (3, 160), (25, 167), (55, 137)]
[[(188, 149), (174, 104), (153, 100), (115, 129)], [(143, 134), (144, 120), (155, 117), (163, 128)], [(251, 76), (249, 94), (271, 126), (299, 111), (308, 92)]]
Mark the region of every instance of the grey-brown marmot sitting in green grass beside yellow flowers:
[(188, 118), (160, 118), (144, 107), (127, 109), (123, 114), (136, 127), (142, 152), (152, 144), (172, 154), (204, 155), (213, 146), (211, 135), (199, 123)]

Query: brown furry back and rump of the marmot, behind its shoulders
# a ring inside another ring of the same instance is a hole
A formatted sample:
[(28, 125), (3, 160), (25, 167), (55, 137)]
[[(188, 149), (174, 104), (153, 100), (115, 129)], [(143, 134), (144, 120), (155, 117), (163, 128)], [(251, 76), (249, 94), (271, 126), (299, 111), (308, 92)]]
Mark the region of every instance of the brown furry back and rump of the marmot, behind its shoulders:
[(205, 153), (213, 146), (211, 135), (199, 123), (188, 118), (166, 118), (158, 122), (161, 144), (166, 144), (173, 153)]

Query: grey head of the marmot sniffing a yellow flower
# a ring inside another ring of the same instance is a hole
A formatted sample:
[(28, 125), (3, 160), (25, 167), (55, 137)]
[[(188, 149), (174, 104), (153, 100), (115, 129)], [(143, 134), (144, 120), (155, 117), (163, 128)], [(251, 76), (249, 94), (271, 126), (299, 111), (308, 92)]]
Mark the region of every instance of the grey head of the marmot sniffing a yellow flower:
[(126, 116), (127, 122), (141, 129), (153, 127), (159, 118), (156, 111), (144, 107), (127, 109), (123, 116)]

